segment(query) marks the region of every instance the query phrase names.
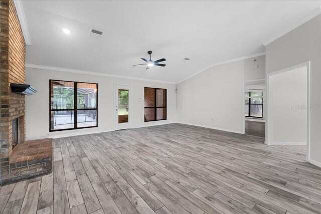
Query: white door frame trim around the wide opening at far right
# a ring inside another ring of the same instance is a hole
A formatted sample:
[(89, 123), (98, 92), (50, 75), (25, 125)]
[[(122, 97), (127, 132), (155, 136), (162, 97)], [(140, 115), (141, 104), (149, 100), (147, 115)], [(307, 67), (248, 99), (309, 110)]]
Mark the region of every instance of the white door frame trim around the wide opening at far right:
[(269, 143), (269, 131), (273, 133), (273, 130), (269, 130), (269, 123), (273, 122), (273, 118), (269, 118), (270, 108), (269, 108), (269, 78), (271, 76), (296, 70), (299, 68), (306, 67), (306, 161), (309, 162), (310, 159), (310, 61), (301, 63), (298, 65), (291, 66), (289, 68), (281, 69), (279, 71), (271, 72), (266, 75), (266, 95), (267, 95), (267, 105), (266, 105), (266, 125), (265, 125), (265, 144), (270, 145)]

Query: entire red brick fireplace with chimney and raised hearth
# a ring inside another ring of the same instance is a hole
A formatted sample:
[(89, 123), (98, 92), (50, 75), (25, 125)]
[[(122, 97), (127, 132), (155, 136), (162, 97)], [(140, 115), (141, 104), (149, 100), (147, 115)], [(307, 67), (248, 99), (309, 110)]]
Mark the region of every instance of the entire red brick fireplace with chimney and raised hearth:
[[(52, 144), (50, 139), (25, 141), (26, 95), (13, 93), (10, 85), (25, 84), (26, 45), (13, 0), (0, 3), (0, 183), (3, 183), (51, 171)], [(37, 151), (32, 149), (35, 147)], [(45, 148), (44, 152), (40, 148)], [(23, 164), (25, 168), (18, 170)]]

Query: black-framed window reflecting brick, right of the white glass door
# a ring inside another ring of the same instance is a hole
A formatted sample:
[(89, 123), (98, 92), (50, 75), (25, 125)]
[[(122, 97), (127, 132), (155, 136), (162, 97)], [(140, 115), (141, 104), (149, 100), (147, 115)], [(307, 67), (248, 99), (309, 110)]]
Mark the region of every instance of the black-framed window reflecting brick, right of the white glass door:
[(144, 88), (145, 122), (166, 120), (167, 90), (162, 88)]

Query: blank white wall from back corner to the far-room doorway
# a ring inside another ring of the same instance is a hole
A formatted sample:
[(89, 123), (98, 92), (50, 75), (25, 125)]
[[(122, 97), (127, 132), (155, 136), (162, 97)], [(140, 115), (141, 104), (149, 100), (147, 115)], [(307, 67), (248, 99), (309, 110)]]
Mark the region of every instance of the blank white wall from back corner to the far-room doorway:
[(264, 78), (265, 56), (214, 66), (177, 85), (177, 120), (242, 133), (243, 81)]

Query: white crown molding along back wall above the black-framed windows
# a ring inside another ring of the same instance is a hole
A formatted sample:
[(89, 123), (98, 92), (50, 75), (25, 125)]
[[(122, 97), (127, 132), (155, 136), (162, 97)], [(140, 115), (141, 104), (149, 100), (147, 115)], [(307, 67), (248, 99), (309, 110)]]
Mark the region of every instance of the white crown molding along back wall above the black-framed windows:
[(121, 75), (104, 74), (99, 72), (82, 71), (82, 70), (34, 65), (34, 64), (26, 64), (26, 68), (34, 68), (34, 69), (41, 69), (41, 70), (47, 70), (47, 71), (61, 71), (61, 72), (68, 72), (68, 73), (101, 76), (101, 77), (121, 78), (121, 79), (128, 79), (128, 80), (140, 80), (140, 81), (155, 82), (155, 83), (166, 83), (166, 84), (174, 84), (174, 85), (176, 84), (175, 82), (168, 82), (168, 81), (161, 81), (161, 80), (143, 79), (138, 77), (128, 77), (128, 76), (121, 76)]

